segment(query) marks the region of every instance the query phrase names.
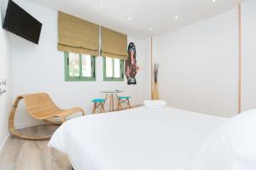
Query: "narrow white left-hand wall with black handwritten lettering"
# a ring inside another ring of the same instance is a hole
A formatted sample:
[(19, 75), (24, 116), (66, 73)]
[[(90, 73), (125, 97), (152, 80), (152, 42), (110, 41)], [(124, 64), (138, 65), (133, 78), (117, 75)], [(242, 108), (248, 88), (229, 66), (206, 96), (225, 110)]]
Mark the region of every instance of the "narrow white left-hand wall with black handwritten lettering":
[(0, 86), (6, 93), (0, 95), (0, 150), (3, 142), (9, 134), (8, 130), (8, 116), (11, 108), (12, 95), (12, 77), (11, 77), (11, 58), (9, 54), (9, 39), (6, 31), (3, 30), (3, 8), (2, 1), (0, 1), (0, 82), (6, 78), (7, 86)]

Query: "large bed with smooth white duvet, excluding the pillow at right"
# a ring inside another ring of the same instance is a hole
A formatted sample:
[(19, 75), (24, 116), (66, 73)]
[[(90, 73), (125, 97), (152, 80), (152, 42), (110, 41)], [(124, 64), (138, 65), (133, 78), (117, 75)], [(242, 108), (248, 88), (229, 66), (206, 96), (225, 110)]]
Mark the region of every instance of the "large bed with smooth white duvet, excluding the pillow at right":
[(67, 153), (75, 170), (177, 170), (227, 120), (140, 107), (65, 122), (49, 146)]

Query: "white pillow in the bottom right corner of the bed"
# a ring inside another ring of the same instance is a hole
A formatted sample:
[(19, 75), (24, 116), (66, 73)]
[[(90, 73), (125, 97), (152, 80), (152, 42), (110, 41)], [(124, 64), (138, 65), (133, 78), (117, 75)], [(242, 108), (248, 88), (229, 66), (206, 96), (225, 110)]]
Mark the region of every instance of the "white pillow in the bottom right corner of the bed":
[(256, 110), (224, 123), (196, 154), (189, 170), (255, 170)]

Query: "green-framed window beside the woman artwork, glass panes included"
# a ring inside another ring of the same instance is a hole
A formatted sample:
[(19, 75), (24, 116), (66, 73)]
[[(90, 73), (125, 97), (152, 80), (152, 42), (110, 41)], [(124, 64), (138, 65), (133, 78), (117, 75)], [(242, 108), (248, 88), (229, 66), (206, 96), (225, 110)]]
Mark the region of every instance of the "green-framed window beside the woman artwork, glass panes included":
[(124, 81), (124, 60), (103, 58), (104, 81)]

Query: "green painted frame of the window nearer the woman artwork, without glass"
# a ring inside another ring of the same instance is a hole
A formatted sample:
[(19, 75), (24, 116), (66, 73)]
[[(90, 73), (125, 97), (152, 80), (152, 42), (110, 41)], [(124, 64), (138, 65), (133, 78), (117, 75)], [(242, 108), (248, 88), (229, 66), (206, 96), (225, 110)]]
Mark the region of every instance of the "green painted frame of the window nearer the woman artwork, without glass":
[[(104, 82), (123, 82), (125, 76), (124, 59), (120, 59), (120, 77), (106, 77), (106, 57), (103, 57), (103, 81)], [(113, 73), (114, 73), (114, 62), (113, 62)], [(114, 74), (113, 74), (114, 75)]]

